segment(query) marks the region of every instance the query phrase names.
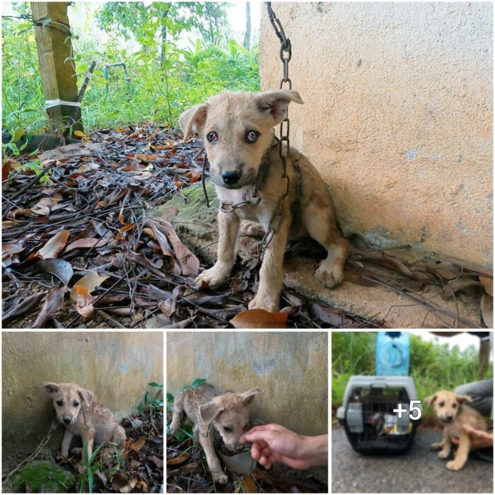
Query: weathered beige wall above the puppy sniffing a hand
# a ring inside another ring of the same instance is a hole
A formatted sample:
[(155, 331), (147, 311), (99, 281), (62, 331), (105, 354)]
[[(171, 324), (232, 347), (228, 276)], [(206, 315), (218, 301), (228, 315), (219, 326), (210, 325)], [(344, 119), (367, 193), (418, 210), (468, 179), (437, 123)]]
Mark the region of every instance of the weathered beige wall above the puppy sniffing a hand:
[(168, 332), (167, 390), (195, 378), (222, 390), (260, 387), (252, 417), (328, 433), (327, 332)]

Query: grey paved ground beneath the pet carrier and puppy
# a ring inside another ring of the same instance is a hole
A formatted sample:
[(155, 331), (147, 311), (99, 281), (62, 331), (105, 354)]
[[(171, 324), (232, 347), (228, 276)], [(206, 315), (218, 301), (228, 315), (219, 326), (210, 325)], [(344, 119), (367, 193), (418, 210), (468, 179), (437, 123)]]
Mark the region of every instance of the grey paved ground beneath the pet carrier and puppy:
[(460, 472), (429, 450), (441, 432), (419, 429), (409, 453), (371, 456), (354, 452), (342, 427), (332, 428), (334, 493), (493, 493), (493, 465), (473, 456)]

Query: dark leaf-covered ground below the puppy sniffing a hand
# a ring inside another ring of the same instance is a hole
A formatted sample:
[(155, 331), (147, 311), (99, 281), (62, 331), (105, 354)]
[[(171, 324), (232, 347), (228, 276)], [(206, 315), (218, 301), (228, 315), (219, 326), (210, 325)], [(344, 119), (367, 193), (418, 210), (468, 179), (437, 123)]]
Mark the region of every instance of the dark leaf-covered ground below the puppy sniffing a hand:
[[(190, 438), (190, 431), (178, 437), (168, 436), (167, 438), (167, 493), (328, 492), (327, 482), (322, 481), (325, 477), (321, 472), (319, 476), (315, 476), (310, 471), (293, 470), (282, 464), (265, 470), (252, 460), (247, 467), (232, 462), (231, 469), (223, 462), (229, 481), (225, 485), (215, 484), (211, 479), (203, 450)], [(248, 450), (249, 448), (243, 453), (244, 458), (250, 458)], [(227, 456), (230, 459), (241, 456), (226, 450), (220, 441), (215, 444), (215, 452), (221, 457)], [(239, 467), (236, 467), (238, 465)]]

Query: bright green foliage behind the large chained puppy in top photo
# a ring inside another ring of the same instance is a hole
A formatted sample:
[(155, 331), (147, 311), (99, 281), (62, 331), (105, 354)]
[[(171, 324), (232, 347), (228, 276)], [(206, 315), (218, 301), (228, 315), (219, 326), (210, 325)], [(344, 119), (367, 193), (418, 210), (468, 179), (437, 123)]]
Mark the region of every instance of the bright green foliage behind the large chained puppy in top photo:
[[(160, 14), (165, 8), (170, 11), (163, 18)], [(223, 4), (200, 2), (153, 2), (146, 7), (139, 2), (104, 4), (98, 22), (110, 33), (110, 40), (102, 44), (91, 35), (79, 33), (72, 39), (74, 59), (68, 61), (76, 68), (79, 87), (91, 62), (96, 62), (83, 98), (86, 132), (146, 120), (175, 127), (184, 110), (219, 91), (259, 91), (257, 47), (248, 51), (234, 40), (223, 42), (224, 11)], [(169, 35), (165, 40), (161, 37), (163, 23)], [(4, 129), (45, 130), (49, 122), (33, 25), (25, 19), (9, 18), (2, 18), (2, 24)], [(202, 32), (202, 38), (191, 40), (190, 47), (180, 48), (176, 35), (192, 28)], [(129, 50), (123, 37), (135, 37), (139, 47)], [(127, 65), (130, 98), (121, 68), (109, 70), (106, 91), (103, 65), (114, 62)]]

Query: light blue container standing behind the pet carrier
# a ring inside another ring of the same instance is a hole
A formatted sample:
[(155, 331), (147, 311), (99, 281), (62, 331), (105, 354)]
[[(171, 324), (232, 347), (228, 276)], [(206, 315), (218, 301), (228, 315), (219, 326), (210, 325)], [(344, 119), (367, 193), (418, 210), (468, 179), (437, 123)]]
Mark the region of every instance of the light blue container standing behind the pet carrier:
[(409, 332), (378, 332), (375, 368), (377, 376), (409, 375)]

